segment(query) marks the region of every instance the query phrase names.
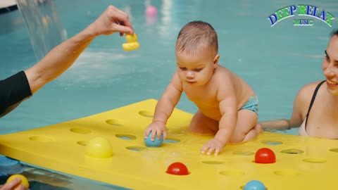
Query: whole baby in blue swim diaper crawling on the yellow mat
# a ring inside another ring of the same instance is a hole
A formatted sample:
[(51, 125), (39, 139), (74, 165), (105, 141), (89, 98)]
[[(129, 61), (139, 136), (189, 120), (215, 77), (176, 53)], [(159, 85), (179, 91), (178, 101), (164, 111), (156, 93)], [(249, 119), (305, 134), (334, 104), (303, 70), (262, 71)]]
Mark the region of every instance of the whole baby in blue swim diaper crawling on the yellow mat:
[(213, 27), (202, 21), (188, 23), (176, 41), (177, 70), (156, 105), (154, 119), (144, 132), (154, 141), (167, 136), (165, 124), (180, 100), (182, 91), (199, 108), (189, 130), (215, 134), (201, 153), (218, 155), (225, 144), (254, 139), (260, 132), (258, 98), (244, 80), (218, 65), (218, 37)]

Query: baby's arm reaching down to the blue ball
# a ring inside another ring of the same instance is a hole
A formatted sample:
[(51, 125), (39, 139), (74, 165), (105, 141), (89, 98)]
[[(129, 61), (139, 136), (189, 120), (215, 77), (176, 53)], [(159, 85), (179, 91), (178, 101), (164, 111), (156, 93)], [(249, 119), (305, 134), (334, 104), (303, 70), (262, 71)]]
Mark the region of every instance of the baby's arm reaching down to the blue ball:
[(155, 135), (157, 135), (158, 139), (161, 139), (161, 134), (163, 134), (164, 139), (167, 137), (165, 124), (171, 113), (173, 113), (176, 104), (180, 101), (181, 94), (182, 82), (180, 81), (177, 72), (175, 72), (173, 79), (168, 84), (168, 87), (165, 89), (161, 99), (156, 105), (153, 122), (151, 122), (144, 132), (145, 138), (149, 136), (151, 131), (151, 141), (154, 141)]

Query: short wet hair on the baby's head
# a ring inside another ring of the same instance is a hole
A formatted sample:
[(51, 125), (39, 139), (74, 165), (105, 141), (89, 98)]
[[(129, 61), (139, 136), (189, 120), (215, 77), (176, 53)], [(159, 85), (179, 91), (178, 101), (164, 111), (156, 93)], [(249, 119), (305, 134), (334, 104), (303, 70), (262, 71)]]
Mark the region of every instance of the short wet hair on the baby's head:
[(215, 29), (209, 23), (200, 20), (187, 23), (177, 36), (176, 51), (194, 55), (201, 49), (218, 53), (218, 37)]

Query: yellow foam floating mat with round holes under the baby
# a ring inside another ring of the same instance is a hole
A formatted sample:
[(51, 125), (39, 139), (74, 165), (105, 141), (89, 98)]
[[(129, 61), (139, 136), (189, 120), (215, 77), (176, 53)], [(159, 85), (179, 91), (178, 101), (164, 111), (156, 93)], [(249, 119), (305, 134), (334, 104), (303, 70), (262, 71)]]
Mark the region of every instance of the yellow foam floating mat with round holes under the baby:
[[(70, 175), (130, 189), (241, 189), (258, 179), (268, 190), (335, 189), (338, 141), (263, 132), (245, 144), (227, 145), (219, 156), (202, 155), (211, 136), (190, 134), (191, 113), (175, 109), (168, 141), (146, 147), (144, 129), (157, 101), (149, 99), (89, 117), (0, 137), (0, 153)], [(86, 156), (87, 141), (110, 141), (111, 158)], [(277, 162), (254, 163), (258, 148), (270, 148)], [(169, 175), (171, 163), (187, 165), (189, 175)]]

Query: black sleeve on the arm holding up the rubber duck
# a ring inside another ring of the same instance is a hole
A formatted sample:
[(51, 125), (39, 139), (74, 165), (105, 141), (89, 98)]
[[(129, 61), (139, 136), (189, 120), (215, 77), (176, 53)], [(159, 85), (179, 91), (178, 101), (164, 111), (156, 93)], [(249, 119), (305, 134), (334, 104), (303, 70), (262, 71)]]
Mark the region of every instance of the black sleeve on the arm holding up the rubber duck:
[(6, 80), (0, 80), (0, 118), (30, 96), (32, 92), (25, 72), (20, 71)]

